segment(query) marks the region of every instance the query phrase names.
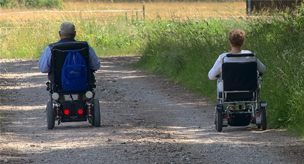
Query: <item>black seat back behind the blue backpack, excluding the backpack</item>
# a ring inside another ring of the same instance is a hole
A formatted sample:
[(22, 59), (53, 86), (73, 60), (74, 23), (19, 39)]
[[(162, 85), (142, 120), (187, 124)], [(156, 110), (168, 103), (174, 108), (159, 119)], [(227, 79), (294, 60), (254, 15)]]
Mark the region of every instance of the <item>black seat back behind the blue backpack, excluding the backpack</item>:
[[(87, 65), (88, 70), (88, 88), (85, 91), (90, 90), (91, 86), (91, 69), (89, 65), (90, 56), (89, 56), (89, 45), (86, 41), (75, 41), (75, 42), (65, 42), (65, 43), (58, 43), (55, 44), (52, 48), (52, 69), (51, 69), (51, 76), (54, 79), (54, 92), (57, 93), (65, 93), (66, 91), (62, 88), (62, 81), (61, 81), (61, 73), (63, 69), (63, 65), (69, 50), (79, 50), (81, 56), (84, 58), (85, 63)], [(79, 93), (79, 91), (77, 91)], [(69, 92), (70, 93), (70, 92)]]

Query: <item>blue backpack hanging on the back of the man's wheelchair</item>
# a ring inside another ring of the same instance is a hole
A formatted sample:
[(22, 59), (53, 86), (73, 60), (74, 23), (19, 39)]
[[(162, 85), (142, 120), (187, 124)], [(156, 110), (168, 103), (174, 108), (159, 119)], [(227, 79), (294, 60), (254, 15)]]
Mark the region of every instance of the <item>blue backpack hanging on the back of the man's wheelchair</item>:
[(69, 50), (62, 67), (61, 81), (65, 91), (81, 91), (88, 88), (88, 69), (78, 50)]

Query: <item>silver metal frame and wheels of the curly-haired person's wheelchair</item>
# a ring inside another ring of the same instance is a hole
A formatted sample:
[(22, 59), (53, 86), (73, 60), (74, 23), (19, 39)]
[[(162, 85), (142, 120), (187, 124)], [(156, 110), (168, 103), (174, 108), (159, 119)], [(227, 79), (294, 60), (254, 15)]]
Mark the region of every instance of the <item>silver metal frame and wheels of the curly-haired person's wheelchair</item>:
[[(226, 54), (225, 57), (222, 58), (222, 66), (224, 65), (225, 58), (238, 58), (238, 57), (254, 57), (255, 63), (257, 63), (257, 58), (254, 53), (242, 53), (242, 54)], [(228, 62), (230, 63), (230, 62)], [(240, 63), (236, 63), (240, 64)], [(242, 64), (246, 64), (243, 62)], [(223, 71), (222, 71), (223, 72)], [(214, 113), (214, 124), (215, 128), (218, 132), (222, 131), (222, 127), (230, 126), (247, 126), (250, 123), (256, 124), (258, 128), (262, 128), (262, 130), (267, 129), (267, 116), (266, 116), (266, 105), (265, 101), (258, 101), (258, 98), (261, 97), (260, 92), (260, 80), (262, 73), (256, 74), (256, 89), (254, 91), (249, 90), (232, 90), (227, 91), (224, 88), (224, 80), (220, 78), (219, 75), (217, 78), (217, 86), (220, 85), (222, 87), (222, 92), (220, 93), (217, 87), (217, 99), (219, 103), (216, 104), (215, 113)], [(221, 77), (222, 77), (221, 73)], [(230, 100), (229, 94), (238, 93), (238, 94), (247, 94), (252, 93), (252, 98), (248, 100)], [(258, 105), (259, 102), (259, 105)], [(239, 110), (232, 111), (230, 108), (238, 107)], [(248, 110), (242, 110), (243, 106), (250, 106)]]

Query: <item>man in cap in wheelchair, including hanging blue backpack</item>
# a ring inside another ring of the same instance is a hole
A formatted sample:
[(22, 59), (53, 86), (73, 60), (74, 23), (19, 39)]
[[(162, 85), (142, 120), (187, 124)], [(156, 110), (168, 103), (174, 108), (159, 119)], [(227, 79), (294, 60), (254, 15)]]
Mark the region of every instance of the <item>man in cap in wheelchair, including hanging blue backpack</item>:
[(76, 41), (75, 26), (64, 22), (60, 26), (60, 40), (49, 44), (40, 58), (39, 68), (48, 73), (47, 127), (53, 129), (55, 121), (89, 121), (100, 126), (99, 100), (94, 99), (96, 88), (94, 72), (100, 61), (86, 41)]

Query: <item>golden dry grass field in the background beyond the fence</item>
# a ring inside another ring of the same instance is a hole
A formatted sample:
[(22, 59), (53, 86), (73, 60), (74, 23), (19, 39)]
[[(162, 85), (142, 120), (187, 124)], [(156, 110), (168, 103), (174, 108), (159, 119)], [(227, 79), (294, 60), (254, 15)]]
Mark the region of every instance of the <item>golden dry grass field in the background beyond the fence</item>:
[[(77, 12), (68, 11), (97, 11), (97, 10), (142, 10), (145, 6), (147, 20), (170, 19), (172, 17), (180, 19), (208, 18), (209, 16), (244, 16), (246, 3), (244, 1), (235, 2), (89, 2), (89, 1), (65, 1), (62, 9), (53, 9), (51, 11), (61, 11), (61, 13), (20, 13), (0, 15), (0, 21), (24, 21), (24, 20), (58, 20), (72, 18), (90, 18), (95, 20), (113, 20), (118, 15), (124, 16), (125, 12)], [(38, 10), (25, 9), (2, 9), (3, 13), (17, 13)], [(39, 10), (44, 11), (44, 10)], [(136, 12), (128, 12), (135, 19)], [(138, 12), (138, 18), (141, 19), (142, 12)], [(129, 19), (131, 19), (129, 17)]]

